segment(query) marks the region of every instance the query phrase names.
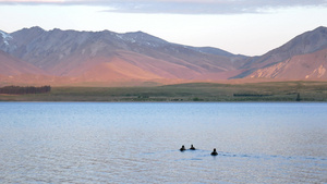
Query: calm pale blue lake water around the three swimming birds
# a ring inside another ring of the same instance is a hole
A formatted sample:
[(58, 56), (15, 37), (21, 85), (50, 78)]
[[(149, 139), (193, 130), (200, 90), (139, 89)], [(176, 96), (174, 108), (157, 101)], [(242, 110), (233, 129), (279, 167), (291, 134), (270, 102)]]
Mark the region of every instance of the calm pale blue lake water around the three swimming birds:
[(0, 183), (327, 183), (327, 103), (1, 102)]

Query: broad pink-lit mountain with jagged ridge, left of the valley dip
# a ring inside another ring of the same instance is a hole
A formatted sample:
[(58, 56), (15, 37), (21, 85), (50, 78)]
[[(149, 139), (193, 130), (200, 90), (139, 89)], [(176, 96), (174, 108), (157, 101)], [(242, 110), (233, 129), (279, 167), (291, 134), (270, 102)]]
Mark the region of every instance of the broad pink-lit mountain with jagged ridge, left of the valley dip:
[(5, 48), (2, 50), (50, 75), (87, 76), (100, 81), (112, 77), (198, 79), (208, 73), (215, 76), (225, 72), (225, 78), (228, 78), (228, 72), (237, 69), (238, 61), (244, 58), (215, 48), (170, 44), (142, 32), (46, 32), (32, 27), (10, 36), (12, 39), (0, 45)]

